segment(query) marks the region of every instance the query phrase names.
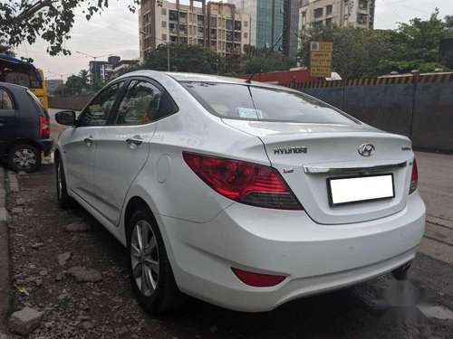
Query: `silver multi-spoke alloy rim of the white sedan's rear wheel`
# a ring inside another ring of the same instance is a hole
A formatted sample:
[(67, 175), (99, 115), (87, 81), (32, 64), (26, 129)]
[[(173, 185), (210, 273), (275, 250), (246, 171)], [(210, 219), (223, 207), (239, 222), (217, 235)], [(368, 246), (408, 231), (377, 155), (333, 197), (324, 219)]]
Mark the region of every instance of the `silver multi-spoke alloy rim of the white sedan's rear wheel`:
[(151, 296), (159, 283), (159, 250), (156, 235), (148, 221), (138, 221), (130, 240), (130, 261), (140, 292)]

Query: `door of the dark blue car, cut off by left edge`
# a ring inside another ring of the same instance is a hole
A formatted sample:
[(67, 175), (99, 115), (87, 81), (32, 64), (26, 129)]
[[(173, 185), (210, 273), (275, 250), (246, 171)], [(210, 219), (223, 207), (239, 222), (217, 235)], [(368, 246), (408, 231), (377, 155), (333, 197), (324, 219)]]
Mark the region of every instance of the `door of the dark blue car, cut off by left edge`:
[(15, 110), (11, 94), (0, 87), (0, 156), (5, 154), (9, 143), (14, 141)]

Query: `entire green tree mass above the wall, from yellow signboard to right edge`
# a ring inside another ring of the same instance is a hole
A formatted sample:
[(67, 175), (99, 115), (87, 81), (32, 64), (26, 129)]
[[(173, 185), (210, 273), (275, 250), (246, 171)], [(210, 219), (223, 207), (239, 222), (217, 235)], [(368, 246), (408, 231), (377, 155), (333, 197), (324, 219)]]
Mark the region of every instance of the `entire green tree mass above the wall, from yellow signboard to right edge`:
[(439, 62), (439, 39), (453, 35), (453, 17), (428, 20), (415, 18), (396, 30), (363, 30), (335, 25), (312, 25), (301, 33), (302, 48), (298, 60), (309, 67), (310, 42), (333, 42), (333, 71), (342, 78), (374, 77), (414, 69), (434, 71), (446, 68)]

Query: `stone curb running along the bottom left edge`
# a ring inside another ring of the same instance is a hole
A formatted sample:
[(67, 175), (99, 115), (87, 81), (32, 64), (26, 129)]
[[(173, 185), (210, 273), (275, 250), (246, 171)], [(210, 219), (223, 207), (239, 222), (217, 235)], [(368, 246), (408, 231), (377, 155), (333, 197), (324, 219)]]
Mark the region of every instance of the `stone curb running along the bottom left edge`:
[(7, 330), (6, 317), (10, 314), (12, 302), (5, 172), (4, 167), (0, 166), (0, 336), (2, 331)]

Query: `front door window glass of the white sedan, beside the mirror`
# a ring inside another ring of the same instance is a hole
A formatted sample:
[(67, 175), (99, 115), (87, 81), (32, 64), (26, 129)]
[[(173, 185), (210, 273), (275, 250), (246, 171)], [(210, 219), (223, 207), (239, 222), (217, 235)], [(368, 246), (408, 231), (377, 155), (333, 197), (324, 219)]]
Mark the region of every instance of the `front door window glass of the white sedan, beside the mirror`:
[(83, 109), (78, 126), (105, 125), (111, 107), (123, 84), (124, 81), (114, 83), (109, 88), (102, 90), (96, 98), (92, 99), (89, 106)]

